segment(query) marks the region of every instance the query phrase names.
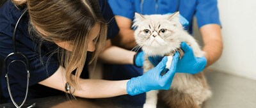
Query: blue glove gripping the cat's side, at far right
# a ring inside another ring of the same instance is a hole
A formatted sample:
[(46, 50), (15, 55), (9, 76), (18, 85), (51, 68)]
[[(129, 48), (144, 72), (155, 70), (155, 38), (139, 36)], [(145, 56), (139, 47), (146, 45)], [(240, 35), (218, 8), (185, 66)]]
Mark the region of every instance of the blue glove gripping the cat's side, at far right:
[(177, 72), (191, 74), (202, 72), (207, 64), (206, 58), (195, 57), (193, 49), (185, 42), (182, 42), (180, 47), (184, 51), (184, 56), (178, 62)]

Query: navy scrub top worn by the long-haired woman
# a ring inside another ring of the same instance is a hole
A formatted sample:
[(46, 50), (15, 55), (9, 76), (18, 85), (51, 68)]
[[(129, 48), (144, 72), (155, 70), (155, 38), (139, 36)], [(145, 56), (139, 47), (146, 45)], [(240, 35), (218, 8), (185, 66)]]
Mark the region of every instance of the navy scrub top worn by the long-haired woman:
[[(104, 19), (106, 20), (106, 22), (108, 22), (108, 38), (112, 38), (112, 36), (117, 35), (119, 31), (115, 19), (112, 19), (113, 13), (107, 1), (99, 0), (99, 5)], [(20, 10), (17, 9), (11, 0), (6, 1), (6, 3), (4, 3), (0, 7), (0, 59), (2, 61), (4, 58), (6, 58), (8, 54), (13, 52), (13, 29), (15, 28), (15, 24), (17, 23), (17, 20), (19, 19), (23, 11), (24, 8), (21, 8)], [(24, 54), (26, 54), (30, 62), (28, 99), (61, 95), (63, 94), (62, 91), (57, 91), (55, 89), (47, 88), (38, 84), (38, 82), (47, 79), (47, 77), (50, 77), (54, 72), (56, 72), (60, 64), (58, 63), (56, 55), (53, 55), (51, 57), (49, 56), (51, 50), (57, 48), (56, 44), (51, 42), (44, 42), (42, 44), (41, 54), (38, 52), (38, 40), (35, 38), (36, 36), (29, 36), (28, 33), (28, 19), (28, 14), (22, 17), (22, 20), (20, 21), (17, 29), (16, 36), (17, 52), (23, 52)], [(31, 39), (31, 37), (33, 39)], [(40, 60), (40, 56), (42, 58), (42, 61)], [(81, 77), (88, 78), (87, 63), (84, 67), (85, 68), (82, 73), (83, 76)], [(12, 95), (13, 98), (19, 102), (24, 99), (26, 93), (27, 73), (22, 63), (13, 63), (12, 65), (10, 65), (9, 69), (10, 71), (8, 73), (8, 76), (10, 79)], [(11, 102), (3, 70), (0, 80), (0, 90), (3, 92), (4, 98), (6, 98), (8, 102)]]

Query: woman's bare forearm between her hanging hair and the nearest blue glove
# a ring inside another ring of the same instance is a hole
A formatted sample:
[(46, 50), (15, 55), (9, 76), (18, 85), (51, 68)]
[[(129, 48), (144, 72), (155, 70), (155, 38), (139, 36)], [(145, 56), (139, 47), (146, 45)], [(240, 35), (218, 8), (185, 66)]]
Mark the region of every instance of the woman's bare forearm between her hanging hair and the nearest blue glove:
[(93, 79), (81, 79), (81, 89), (76, 89), (75, 96), (83, 98), (107, 98), (112, 96), (125, 95), (126, 81), (104, 81)]

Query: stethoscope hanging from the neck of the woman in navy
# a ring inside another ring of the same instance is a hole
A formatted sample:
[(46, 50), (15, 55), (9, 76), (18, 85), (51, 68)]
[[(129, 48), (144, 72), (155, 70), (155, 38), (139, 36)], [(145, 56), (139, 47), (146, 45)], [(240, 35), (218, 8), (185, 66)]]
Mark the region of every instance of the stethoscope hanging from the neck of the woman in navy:
[[(6, 78), (6, 84), (7, 84), (7, 88), (8, 88), (8, 92), (9, 92), (9, 95), (10, 95), (10, 98), (12, 100), (12, 103), (13, 105), (15, 105), (15, 107), (22, 107), (25, 102), (26, 102), (26, 99), (27, 99), (27, 96), (28, 96), (28, 86), (29, 86), (29, 59), (27, 58), (27, 56), (22, 53), (22, 52), (17, 52), (16, 50), (16, 33), (17, 33), (17, 27), (19, 26), (19, 22), (20, 22), (20, 19), (22, 19), (22, 17), (25, 15), (25, 13), (27, 12), (27, 10), (24, 10), (24, 12), (22, 13), (22, 15), (20, 15), (16, 25), (15, 25), (15, 28), (14, 28), (14, 31), (13, 31), (13, 37), (12, 37), (12, 47), (13, 47), (13, 52), (8, 54), (8, 56), (6, 56), (6, 58), (4, 58), (4, 63), (3, 63), (3, 68), (5, 70), (5, 78)], [(24, 58), (25, 61), (21, 60), (21, 59), (14, 59), (14, 60), (11, 60), (10, 58), (11, 57), (19, 57), (19, 58)], [(8, 60), (10, 59), (10, 63), (8, 63)], [(9, 66), (14, 63), (14, 62), (21, 62), (23, 63), (25, 66), (26, 66), (26, 72), (27, 72), (27, 86), (26, 86), (26, 95), (24, 97), (24, 100), (22, 101), (22, 104), (18, 105), (15, 100), (13, 99), (13, 96), (12, 96), (12, 91), (10, 89), (10, 84), (9, 84), (9, 77), (8, 77), (8, 68)], [(8, 64), (8, 65), (7, 65)], [(32, 104), (32, 105), (29, 105), (28, 108), (30, 107), (35, 107), (35, 103)]]

